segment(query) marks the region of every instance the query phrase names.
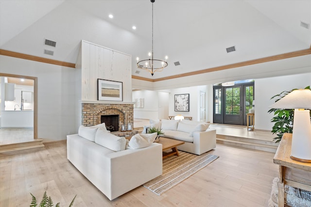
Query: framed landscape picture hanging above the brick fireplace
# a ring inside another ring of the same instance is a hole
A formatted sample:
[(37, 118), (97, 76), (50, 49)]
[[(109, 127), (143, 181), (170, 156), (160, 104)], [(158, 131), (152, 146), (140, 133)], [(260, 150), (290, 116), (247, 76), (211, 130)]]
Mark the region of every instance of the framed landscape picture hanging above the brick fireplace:
[(97, 80), (98, 100), (100, 101), (122, 101), (123, 86), (122, 82), (113, 80)]

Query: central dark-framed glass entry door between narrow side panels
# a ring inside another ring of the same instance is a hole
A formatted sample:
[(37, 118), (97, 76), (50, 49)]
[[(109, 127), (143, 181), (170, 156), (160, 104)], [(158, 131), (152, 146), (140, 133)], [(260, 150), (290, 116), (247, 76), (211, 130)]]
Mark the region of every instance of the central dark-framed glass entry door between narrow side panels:
[(243, 125), (242, 86), (225, 87), (224, 124)]

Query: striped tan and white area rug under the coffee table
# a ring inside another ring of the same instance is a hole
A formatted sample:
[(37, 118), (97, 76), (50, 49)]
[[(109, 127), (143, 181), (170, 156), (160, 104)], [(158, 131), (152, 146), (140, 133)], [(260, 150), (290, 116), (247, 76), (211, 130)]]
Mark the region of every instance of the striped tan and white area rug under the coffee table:
[(163, 173), (155, 179), (143, 184), (144, 187), (161, 195), (195, 174), (209, 163), (219, 158), (204, 153), (200, 156), (179, 151), (179, 157), (171, 156), (163, 159)]

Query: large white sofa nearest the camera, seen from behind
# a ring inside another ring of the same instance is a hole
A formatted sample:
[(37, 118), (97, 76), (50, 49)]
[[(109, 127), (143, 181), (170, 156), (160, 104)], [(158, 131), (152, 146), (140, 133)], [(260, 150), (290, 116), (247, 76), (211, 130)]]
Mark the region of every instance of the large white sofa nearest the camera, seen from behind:
[(161, 144), (125, 149), (124, 137), (97, 128), (80, 128), (81, 136), (67, 136), (67, 158), (109, 200), (162, 175)]

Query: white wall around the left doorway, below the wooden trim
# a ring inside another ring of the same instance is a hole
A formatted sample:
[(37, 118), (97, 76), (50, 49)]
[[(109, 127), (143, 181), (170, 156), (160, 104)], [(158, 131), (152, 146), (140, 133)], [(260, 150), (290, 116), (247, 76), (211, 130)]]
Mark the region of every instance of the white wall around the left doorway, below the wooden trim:
[(76, 132), (75, 69), (0, 55), (0, 73), (38, 78), (38, 138), (66, 139)]

